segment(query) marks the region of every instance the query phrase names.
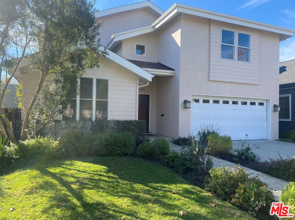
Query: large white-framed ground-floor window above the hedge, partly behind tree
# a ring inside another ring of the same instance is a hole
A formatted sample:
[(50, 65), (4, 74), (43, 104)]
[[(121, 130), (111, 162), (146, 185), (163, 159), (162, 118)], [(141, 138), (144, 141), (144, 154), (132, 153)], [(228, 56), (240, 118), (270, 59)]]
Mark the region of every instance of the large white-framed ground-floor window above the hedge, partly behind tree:
[[(62, 115), (62, 120), (95, 120), (108, 119), (109, 79), (81, 77), (78, 80), (80, 93), (72, 98)], [(75, 106), (76, 105), (76, 106)]]

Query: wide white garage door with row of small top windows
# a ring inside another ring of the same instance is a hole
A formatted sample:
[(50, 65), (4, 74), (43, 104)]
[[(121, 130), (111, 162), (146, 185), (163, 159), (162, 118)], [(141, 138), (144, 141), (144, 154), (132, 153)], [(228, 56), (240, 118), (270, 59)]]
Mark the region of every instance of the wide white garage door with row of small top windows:
[(211, 124), (232, 140), (245, 134), (249, 140), (267, 139), (267, 100), (192, 96), (191, 101), (193, 134)]

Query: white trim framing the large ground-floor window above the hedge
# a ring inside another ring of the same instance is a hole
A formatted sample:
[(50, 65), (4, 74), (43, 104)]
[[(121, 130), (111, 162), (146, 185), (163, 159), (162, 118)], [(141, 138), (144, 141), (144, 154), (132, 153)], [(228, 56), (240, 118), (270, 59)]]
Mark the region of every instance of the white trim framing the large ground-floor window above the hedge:
[[(96, 108), (96, 100), (108, 101), (108, 110), (107, 110), (107, 120), (109, 120), (109, 79), (108, 78), (99, 78), (99, 77), (91, 77), (91, 76), (82, 76), (81, 78), (90, 78), (92, 79), (92, 99), (83, 99), (83, 100), (92, 100), (92, 120), (95, 120), (95, 108)], [(105, 79), (108, 80), (108, 99), (96, 99), (96, 79)], [(80, 89), (80, 79), (78, 79), (77, 88)], [(63, 115), (61, 114), (61, 121), (63, 121)], [(80, 120), (80, 93), (76, 96), (76, 121)]]

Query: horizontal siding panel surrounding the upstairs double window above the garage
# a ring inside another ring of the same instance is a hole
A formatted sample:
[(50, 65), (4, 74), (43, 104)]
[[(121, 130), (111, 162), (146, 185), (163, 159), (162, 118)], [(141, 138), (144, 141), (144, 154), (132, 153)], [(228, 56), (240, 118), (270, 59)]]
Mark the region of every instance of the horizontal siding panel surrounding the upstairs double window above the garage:
[[(235, 60), (220, 58), (221, 28), (235, 31)], [(237, 61), (238, 31), (251, 34), (250, 63)], [(210, 40), (210, 80), (259, 84), (259, 47), (260, 34), (257, 30), (249, 30), (239, 26), (211, 21)]]

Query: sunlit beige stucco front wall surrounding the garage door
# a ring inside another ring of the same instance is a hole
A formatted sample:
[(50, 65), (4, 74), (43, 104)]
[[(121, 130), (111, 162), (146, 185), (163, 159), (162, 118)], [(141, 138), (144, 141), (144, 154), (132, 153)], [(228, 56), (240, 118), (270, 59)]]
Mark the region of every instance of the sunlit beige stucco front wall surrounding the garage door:
[[(190, 132), (190, 109), (183, 108), (183, 100), (191, 94), (264, 98), (271, 106), (278, 103), (279, 36), (260, 31), (259, 85), (209, 80), (210, 25), (209, 20), (195, 16), (181, 16), (181, 55), (179, 92), (179, 135)], [(234, 27), (232, 28), (234, 29)], [(269, 46), (271, 45), (271, 46)], [(278, 112), (271, 111), (271, 139), (278, 139)]]

